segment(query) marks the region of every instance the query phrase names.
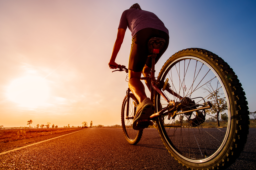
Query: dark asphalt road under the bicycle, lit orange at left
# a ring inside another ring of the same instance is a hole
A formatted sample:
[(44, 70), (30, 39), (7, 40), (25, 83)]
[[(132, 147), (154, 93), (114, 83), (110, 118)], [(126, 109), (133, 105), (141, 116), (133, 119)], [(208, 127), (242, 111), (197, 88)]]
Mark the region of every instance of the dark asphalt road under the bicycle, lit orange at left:
[[(228, 169), (256, 169), (255, 134), (256, 129), (251, 128), (243, 152)], [(30, 140), (27, 144), (34, 142), (33, 138), (27, 140)], [(2, 152), (10, 148), (10, 144), (0, 146)], [(122, 128), (88, 128), (2, 154), (0, 169), (186, 168), (172, 158), (154, 128), (144, 129), (141, 141), (135, 146), (126, 142)]]

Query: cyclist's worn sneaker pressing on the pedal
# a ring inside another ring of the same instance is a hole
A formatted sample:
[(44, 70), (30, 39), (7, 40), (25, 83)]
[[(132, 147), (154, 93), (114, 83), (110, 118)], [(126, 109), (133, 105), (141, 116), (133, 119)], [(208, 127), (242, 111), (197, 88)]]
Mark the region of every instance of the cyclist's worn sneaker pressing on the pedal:
[(149, 117), (155, 113), (155, 107), (150, 98), (145, 98), (143, 102), (138, 104), (137, 111), (133, 119), (132, 127), (134, 130), (142, 130), (147, 128), (151, 121)]

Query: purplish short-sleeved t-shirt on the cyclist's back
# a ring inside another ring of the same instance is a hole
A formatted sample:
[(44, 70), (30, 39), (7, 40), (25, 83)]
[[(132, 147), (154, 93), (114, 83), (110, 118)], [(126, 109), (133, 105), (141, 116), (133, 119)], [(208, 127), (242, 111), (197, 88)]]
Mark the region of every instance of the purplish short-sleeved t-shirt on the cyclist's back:
[(164, 23), (154, 13), (135, 8), (125, 10), (121, 16), (118, 28), (126, 31), (127, 27), (132, 32), (132, 37), (144, 28), (154, 28), (169, 35)]

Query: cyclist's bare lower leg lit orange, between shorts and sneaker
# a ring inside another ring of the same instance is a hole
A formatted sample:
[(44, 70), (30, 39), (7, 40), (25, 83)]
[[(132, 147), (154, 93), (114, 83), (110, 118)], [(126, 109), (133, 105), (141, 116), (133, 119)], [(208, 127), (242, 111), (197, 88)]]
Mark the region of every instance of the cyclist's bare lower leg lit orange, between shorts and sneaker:
[(141, 103), (145, 98), (147, 98), (145, 93), (145, 87), (141, 82), (141, 72), (134, 72), (129, 70), (129, 88), (135, 97), (138, 99), (139, 103)]

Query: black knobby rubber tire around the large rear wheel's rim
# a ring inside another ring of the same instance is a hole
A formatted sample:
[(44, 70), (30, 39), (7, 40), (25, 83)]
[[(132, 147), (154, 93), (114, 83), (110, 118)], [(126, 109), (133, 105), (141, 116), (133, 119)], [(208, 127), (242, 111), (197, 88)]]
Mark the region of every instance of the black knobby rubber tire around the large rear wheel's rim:
[[(220, 74), (225, 77), (226, 82), (228, 84), (229, 89), (231, 91), (231, 96), (233, 99), (234, 103), (234, 108), (235, 110), (235, 115), (234, 118), (236, 119), (235, 121), (235, 132), (233, 134), (233, 140), (227, 149), (226, 154), (219, 159), (218, 162), (215, 162), (209, 167), (205, 167), (202, 169), (225, 169), (228, 166), (230, 166), (234, 161), (239, 157), (241, 151), (244, 148), (244, 145), (247, 141), (247, 134), (249, 133), (249, 111), (248, 111), (248, 102), (246, 101), (246, 97), (244, 96), (245, 93), (243, 91), (243, 88), (241, 87), (241, 83), (237, 79), (237, 75), (233, 72), (233, 69), (230, 68), (230, 66), (219, 56), (216, 54), (207, 51), (205, 49), (200, 49), (200, 48), (187, 48), (183, 49), (181, 51), (178, 51), (174, 55), (172, 55), (163, 65), (161, 68), (157, 80), (159, 76), (161, 75), (162, 71), (166, 69), (167, 63), (169, 63), (170, 60), (172, 60), (173, 57), (177, 57), (178, 55), (182, 55), (184, 53), (187, 53), (186, 55), (189, 56), (189, 54), (199, 54), (201, 56), (204, 56), (207, 58), (209, 61), (214, 63), (214, 65), (219, 69), (221, 72)], [(226, 87), (227, 88), (227, 87)], [(158, 128), (158, 133), (161, 136), (160, 128)], [(161, 136), (162, 138), (162, 136)], [(163, 138), (162, 141), (164, 142)], [(164, 142), (165, 144), (165, 142)], [(186, 165), (184, 164), (181, 160), (178, 160), (175, 158), (175, 156), (171, 153), (171, 151), (168, 149), (166, 146), (166, 149), (169, 151), (169, 153), (174, 157), (175, 160), (177, 160), (179, 163), (181, 163), (183, 166), (189, 168), (189, 169), (198, 169), (198, 167), (191, 166), (191, 165)]]

